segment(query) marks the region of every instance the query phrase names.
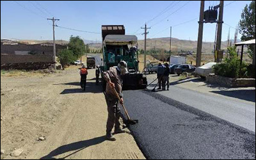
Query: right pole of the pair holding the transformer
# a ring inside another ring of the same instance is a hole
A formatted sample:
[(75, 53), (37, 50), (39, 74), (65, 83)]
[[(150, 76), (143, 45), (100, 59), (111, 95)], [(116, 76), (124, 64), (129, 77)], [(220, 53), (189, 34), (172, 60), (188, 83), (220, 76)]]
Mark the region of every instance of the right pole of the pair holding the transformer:
[[(221, 50), (221, 33), (222, 33), (222, 24), (223, 24), (223, 8), (224, 8), (224, 1), (220, 1), (220, 13), (218, 19), (218, 31), (217, 31), (217, 41), (216, 41), (216, 51)], [(217, 56), (217, 63), (220, 62), (220, 58)]]

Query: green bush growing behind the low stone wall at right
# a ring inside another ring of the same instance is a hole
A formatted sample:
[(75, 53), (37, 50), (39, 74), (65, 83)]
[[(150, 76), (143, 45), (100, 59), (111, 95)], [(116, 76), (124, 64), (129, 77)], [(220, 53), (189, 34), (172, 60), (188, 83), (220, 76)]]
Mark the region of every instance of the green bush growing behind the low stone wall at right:
[(237, 60), (236, 47), (228, 47), (229, 57), (223, 63), (214, 65), (214, 73), (223, 77), (251, 77), (253, 68), (246, 63)]

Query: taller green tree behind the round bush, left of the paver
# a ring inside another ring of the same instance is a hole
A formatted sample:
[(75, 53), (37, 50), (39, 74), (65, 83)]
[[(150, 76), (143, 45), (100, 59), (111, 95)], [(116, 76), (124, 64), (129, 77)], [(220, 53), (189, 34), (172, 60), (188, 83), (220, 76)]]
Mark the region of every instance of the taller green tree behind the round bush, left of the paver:
[(76, 59), (78, 59), (84, 55), (84, 41), (79, 36), (70, 36), (68, 49), (70, 49), (73, 52)]

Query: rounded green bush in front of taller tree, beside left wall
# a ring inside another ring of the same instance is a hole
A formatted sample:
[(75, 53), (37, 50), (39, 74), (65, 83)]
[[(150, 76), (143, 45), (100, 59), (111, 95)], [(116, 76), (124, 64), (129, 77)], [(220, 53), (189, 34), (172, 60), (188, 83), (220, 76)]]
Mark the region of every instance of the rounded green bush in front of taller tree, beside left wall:
[(63, 68), (67, 67), (67, 65), (73, 61), (76, 61), (76, 56), (74, 56), (73, 52), (68, 49), (61, 49), (58, 57), (60, 58), (60, 63)]

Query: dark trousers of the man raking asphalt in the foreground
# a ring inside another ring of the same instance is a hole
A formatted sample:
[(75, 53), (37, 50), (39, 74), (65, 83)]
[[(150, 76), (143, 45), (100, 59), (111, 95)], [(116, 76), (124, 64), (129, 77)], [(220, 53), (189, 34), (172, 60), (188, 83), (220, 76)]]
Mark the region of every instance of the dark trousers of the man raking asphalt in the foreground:
[(120, 122), (119, 118), (121, 116), (121, 110), (118, 106), (118, 99), (114, 100), (109, 100), (106, 98), (106, 102), (108, 105), (108, 121), (107, 121), (107, 130), (106, 133), (110, 134), (114, 124), (115, 124), (115, 129), (120, 129)]

